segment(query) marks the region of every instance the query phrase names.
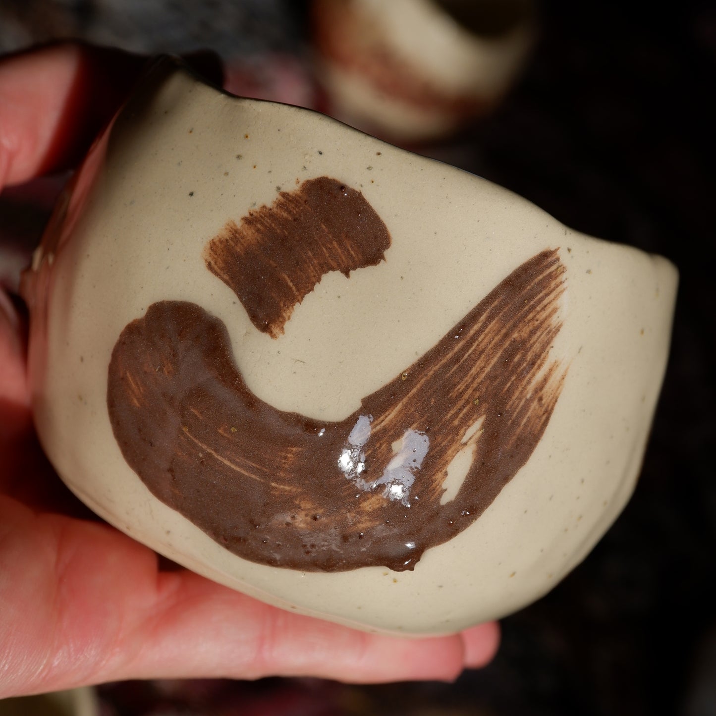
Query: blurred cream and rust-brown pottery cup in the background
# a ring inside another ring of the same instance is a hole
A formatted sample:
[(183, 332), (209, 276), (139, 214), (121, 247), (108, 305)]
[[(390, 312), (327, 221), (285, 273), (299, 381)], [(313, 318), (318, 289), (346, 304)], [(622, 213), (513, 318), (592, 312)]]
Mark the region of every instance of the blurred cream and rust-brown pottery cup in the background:
[(329, 115), (380, 137), (445, 137), (505, 95), (533, 42), (531, 0), (314, 0)]

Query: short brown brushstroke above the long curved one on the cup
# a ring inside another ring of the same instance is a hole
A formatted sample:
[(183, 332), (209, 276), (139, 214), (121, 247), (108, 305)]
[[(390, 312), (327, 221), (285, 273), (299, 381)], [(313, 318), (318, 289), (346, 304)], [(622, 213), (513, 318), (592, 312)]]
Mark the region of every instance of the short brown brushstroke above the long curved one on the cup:
[(204, 260), (259, 331), (278, 338), (297, 304), (329, 271), (377, 266), (390, 233), (362, 193), (329, 177), (282, 191), (271, 206), (229, 221)]

